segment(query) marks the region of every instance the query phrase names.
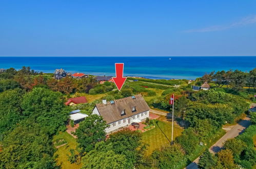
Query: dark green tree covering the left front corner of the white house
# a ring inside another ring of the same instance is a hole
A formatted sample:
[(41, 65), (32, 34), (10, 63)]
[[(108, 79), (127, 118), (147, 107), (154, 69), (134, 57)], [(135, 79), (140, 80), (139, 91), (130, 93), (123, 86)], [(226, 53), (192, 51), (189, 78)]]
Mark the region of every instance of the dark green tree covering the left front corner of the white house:
[(105, 140), (107, 128), (106, 121), (101, 116), (92, 114), (80, 122), (79, 128), (75, 131), (78, 147), (81, 148), (81, 154), (91, 151), (95, 144)]

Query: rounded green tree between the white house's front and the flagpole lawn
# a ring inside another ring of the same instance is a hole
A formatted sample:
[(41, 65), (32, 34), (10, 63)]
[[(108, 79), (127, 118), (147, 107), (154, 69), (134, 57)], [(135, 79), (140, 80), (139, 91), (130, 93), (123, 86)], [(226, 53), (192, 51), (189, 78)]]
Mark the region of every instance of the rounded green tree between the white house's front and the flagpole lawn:
[(137, 166), (143, 162), (146, 145), (140, 133), (125, 128), (111, 134), (107, 143), (112, 144), (116, 154), (125, 155), (128, 166)]

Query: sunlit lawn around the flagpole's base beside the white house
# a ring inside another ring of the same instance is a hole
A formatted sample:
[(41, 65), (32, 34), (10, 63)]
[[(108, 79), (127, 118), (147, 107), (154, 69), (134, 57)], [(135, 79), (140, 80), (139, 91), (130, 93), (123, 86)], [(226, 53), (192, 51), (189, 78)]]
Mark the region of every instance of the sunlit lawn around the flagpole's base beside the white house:
[[(142, 134), (143, 142), (149, 144), (146, 155), (150, 155), (155, 149), (160, 149), (165, 144), (170, 144), (171, 141), (171, 123), (155, 120), (155, 128)], [(180, 136), (183, 129), (174, 125), (173, 140)]]

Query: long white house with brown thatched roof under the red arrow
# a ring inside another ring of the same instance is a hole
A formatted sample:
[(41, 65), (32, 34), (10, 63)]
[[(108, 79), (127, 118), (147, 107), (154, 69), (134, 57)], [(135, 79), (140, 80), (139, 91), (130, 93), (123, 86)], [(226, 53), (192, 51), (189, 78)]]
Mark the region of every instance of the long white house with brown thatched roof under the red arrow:
[(149, 117), (149, 107), (142, 95), (106, 101), (95, 105), (92, 114), (97, 114), (109, 124), (106, 133), (116, 131), (132, 122)]

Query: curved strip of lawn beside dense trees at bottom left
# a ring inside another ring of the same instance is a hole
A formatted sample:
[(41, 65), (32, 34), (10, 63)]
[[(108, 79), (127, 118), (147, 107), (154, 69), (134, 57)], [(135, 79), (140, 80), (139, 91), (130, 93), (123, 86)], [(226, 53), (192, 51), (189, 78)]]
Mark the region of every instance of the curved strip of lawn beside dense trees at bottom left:
[(57, 151), (54, 153), (54, 155), (57, 155), (56, 161), (58, 165), (61, 165), (61, 168), (64, 169), (68, 169), (68, 168), (72, 168), (72, 169), (76, 169), (76, 168), (81, 168), (82, 165), (77, 165), (77, 164), (71, 164), (68, 161), (68, 156), (69, 150), (70, 149), (75, 149), (76, 147), (76, 140), (74, 137), (72, 137), (70, 134), (68, 134), (67, 132), (61, 132), (60, 134), (56, 135), (53, 137), (53, 141), (58, 139), (58, 138), (63, 138), (65, 139), (68, 144), (60, 147), (57, 149)]

